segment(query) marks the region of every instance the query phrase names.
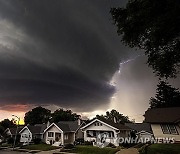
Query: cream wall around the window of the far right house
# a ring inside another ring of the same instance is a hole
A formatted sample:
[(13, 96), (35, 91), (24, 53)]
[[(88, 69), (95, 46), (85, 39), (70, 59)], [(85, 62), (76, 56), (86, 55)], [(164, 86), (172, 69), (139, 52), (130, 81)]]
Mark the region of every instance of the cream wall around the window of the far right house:
[(176, 129), (178, 131), (177, 135), (173, 135), (173, 134), (163, 134), (162, 129), (161, 129), (161, 125), (160, 124), (151, 124), (151, 128), (154, 134), (154, 137), (169, 137), (169, 138), (174, 138), (175, 141), (180, 141), (180, 128), (178, 125), (176, 125)]

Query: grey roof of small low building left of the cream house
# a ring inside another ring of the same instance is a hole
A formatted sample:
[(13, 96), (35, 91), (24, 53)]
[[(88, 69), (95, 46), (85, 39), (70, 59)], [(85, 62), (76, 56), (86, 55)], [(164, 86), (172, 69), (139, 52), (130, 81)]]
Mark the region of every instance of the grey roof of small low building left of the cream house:
[(149, 123), (126, 123), (125, 125), (133, 130), (136, 130), (137, 132), (146, 131), (152, 133)]

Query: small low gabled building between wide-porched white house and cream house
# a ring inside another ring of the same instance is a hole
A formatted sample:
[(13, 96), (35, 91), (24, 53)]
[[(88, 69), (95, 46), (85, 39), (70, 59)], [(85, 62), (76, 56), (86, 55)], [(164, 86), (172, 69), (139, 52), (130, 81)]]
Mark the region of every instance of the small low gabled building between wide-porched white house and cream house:
[(139, 139), (141, 138), (144, 140), (153, 137), (151, 125), (149, 123), (126, 123), (125, 125), (135, 131)]

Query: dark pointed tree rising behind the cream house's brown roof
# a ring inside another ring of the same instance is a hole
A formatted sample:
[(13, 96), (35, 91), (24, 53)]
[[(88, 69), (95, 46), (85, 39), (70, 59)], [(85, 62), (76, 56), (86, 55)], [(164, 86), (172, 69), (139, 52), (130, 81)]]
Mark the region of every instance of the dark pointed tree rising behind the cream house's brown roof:
[(180, 107), (180, 92), (165, 81), (160, 81), (155, 98), (150, 99), (150, 108)]

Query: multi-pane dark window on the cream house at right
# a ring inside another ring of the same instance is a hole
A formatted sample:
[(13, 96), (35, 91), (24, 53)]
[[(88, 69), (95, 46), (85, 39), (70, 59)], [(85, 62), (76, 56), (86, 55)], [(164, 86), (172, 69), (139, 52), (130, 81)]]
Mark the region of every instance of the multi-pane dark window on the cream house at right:
[(178, 134), (176, 126), (175, 125), (166, 125), (162, 124), (161, 129), (163, 131), (163, 134)]

